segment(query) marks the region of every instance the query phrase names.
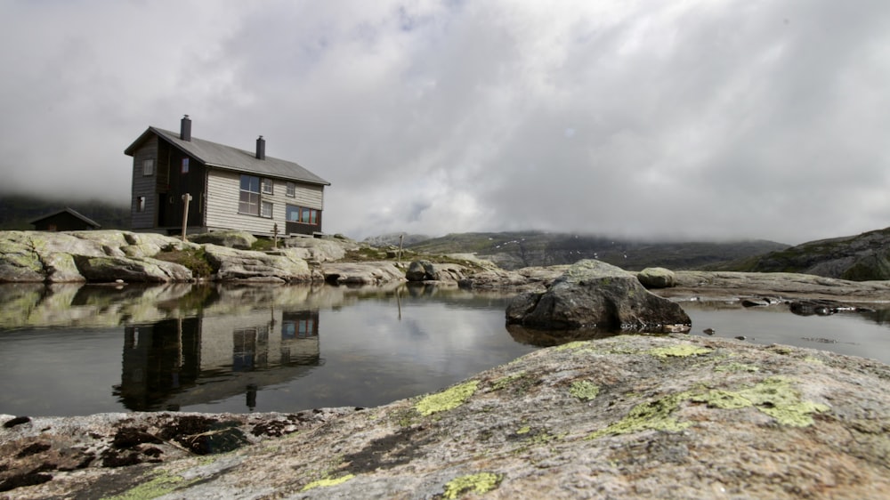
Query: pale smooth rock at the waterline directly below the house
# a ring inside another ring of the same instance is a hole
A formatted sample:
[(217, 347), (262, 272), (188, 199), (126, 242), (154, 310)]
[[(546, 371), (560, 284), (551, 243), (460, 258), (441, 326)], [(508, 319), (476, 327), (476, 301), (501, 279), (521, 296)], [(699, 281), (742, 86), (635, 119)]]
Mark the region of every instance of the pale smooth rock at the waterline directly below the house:
[(204, 251), (214, 269), (214, 278), (220, 281), (312, 281), (309, 264), (287, 249), (266, 254), (207, 244)]

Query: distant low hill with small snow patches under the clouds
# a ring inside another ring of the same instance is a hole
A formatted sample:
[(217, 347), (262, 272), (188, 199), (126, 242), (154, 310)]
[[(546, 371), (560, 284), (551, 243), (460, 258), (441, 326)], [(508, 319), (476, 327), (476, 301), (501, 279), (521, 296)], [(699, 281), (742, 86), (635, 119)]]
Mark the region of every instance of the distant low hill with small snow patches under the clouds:
[(409, 246), (427, 254), (474, 253), (504, 269), (570, 264), (598, 259), (626, 270), (666, 267), (700, 269), (788, 248), (773, 241), (643, 242), (601, 236), (540, 231), (458, 233)]

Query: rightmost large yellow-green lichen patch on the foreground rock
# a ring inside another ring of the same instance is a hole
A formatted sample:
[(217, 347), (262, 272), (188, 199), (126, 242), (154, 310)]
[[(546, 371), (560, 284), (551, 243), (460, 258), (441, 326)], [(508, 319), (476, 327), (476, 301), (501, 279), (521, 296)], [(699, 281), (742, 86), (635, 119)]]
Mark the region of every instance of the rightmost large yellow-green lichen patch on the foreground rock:
[(813, 413), (830, 409), (826, 405), (800, 399), (800, 392), (782, 377), (770, 377), (740, 391), (707, 391), (695, 394), (690, 399), (706, 403), (708, 407), (723, 409), (756, 407), (772, 416), (777, 423), (792, 427), (813, 425)]

